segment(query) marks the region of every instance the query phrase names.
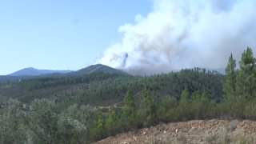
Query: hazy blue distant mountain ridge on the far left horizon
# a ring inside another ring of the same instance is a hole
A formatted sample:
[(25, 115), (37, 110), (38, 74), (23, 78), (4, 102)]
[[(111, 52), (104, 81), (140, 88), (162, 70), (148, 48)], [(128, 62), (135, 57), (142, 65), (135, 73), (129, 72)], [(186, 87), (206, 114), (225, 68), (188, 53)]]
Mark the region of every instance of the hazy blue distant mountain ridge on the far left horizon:
[(46, 75), (46, 74), (67, 74), (71, 73), (71, 70), (38, 70), (33, 67), (25, 68), (22, 70), (18, 70), (12, 74), (9, 74), (8, 76), (40, 76), (40, 75)]

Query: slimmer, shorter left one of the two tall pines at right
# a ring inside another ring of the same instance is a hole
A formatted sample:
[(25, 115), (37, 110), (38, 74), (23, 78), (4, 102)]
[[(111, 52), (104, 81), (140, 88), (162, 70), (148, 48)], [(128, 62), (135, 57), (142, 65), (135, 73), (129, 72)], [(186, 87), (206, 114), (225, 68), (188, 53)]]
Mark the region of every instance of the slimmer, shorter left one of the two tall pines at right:
[(233, 58), (233, 54), (230, 55), (229, 62), (226, 66), (226, 78), (224, 84), (224, 98), (226, 101), (234, 100), (236, 92), (236, 62)]

